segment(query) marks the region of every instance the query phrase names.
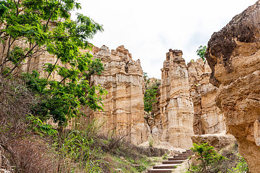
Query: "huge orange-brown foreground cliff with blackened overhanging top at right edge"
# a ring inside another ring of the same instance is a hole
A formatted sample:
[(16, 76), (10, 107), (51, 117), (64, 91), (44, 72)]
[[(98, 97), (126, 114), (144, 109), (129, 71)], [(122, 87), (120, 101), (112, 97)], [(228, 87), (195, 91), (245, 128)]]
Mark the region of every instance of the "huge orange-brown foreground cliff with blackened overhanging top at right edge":
[(260, 170), (260, 1), (214, 33), (206, 52), (229, 133), (251, 173)]

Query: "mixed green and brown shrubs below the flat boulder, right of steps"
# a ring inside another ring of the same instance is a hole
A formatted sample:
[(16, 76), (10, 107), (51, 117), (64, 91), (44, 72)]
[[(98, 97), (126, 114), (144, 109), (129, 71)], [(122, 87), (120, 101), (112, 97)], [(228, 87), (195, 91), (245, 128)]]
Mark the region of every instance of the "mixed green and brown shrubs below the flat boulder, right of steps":
[(189, 160), (187, 173), (247, 173), (245, 159), (238, 153), (238, 144), (228, 145), (218, 154), (207, 143), (194, 144), (195, 157)]

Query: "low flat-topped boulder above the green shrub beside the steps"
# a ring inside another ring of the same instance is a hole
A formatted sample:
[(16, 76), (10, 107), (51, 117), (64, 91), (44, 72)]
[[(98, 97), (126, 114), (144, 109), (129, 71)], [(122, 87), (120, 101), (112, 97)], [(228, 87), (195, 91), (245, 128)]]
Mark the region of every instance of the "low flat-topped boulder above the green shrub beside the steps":
[(193, 135), (191, 139), (193, 143), (208, 142), (208, 145), (213, 146), (216, 150), (220, 150), (236, 141), (235, 137), (227, 134), (226, 131), (220, 131), (215, 134)]

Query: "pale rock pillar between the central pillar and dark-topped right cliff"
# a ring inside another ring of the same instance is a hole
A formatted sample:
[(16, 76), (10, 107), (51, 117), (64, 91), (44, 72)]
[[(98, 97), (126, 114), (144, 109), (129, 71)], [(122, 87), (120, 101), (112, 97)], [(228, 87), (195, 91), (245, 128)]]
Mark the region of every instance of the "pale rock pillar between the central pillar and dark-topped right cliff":
[(188, 64), (190, 95), (194, 104), (195, 134), (226, 130), (224, 114), (215, 103), (218, 88), (209, 83), (211, 69), (200, 58)]

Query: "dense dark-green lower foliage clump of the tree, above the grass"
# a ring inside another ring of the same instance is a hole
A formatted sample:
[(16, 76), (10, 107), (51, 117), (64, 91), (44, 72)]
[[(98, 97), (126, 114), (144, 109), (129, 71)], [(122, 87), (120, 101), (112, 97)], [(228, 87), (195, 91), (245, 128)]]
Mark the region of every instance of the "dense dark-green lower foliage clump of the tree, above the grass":
[[(42, 120), (52, 118), (54, 122), (65, 126), (71, 118), (83, 115), (80, 111), (82, 106), (89, 106), (94, 111), (104, 110), (101, 96), (106, 93), (104, 88), (90, 86), (84, 77), (77, 79), (80, 72), (65, 68), (59, 72), (69, 74), (69, 78), (64, 78), (67, 82), (40, 78), (36, 71), (22, 74), (27, 87), (41, 99), (33, 108), (34, 116), (41, 117)], [(88, 74), (83, 73), (84, 75)], [(96, 93), (96, 90), (100, 95)]]

